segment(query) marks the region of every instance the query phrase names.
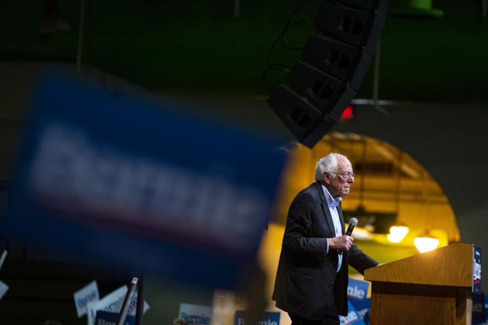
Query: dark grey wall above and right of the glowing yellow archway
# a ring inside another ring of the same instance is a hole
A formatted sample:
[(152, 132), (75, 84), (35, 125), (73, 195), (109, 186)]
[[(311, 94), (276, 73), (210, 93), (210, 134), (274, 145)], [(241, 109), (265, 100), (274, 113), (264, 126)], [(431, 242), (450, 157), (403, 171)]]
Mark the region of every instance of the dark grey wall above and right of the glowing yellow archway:
[[(412, 155), (444, 190), (454, 210), (461, 241), (486, 251), (487, 124), (486, 105), (420, 104), (392, 107), (389, 116), (374, 107), (359, 107), (354, 121), (339, 123), (334, 130), (378, 138)], [(483, 291), (487, 292), (486, 267), (482, 268), (481, 278)]]

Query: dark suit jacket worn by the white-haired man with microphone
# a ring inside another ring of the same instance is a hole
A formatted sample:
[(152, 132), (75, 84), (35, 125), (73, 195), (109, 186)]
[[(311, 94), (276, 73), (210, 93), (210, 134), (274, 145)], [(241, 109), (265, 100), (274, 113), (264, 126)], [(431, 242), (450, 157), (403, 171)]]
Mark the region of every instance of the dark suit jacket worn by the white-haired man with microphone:
[[(341, 205), (337, 207), (344, 230)], [(356, 246), (345, 251), (337, 273), (337, 250), (327, 252), (327, 238), (334, 225), (322, 185), (301, 190), (288, 210), (285, 235), (272, 299), (276, 306), (293, 315), (320, 319), (329, 303), (331, 290), (340, 315), (347, 315), (348, 265), (363, 274), (378, 263)]]

